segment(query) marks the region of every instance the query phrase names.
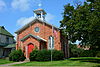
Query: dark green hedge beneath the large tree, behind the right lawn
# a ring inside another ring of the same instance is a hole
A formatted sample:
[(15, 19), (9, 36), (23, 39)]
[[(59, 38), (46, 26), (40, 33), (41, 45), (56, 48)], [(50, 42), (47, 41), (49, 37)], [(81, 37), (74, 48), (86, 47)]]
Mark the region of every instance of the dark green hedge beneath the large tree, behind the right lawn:
[(77, 48), (76, 44), (70, 44), (70, 56), (71, 57), (95, 57), (99, 56), (99, 51), (95, 50), (84, 50)]

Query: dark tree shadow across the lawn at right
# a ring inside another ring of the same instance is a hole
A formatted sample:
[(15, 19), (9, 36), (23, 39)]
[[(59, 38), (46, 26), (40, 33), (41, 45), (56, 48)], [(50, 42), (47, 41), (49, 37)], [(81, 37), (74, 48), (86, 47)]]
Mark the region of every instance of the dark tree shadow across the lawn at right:
[[(70, 59), (72, 61), (81, 61), (81, 62), (92, 62), (92, 63), (100, 63), (100, 59), (98, 58), (77, 58), (77, 59)], [(100, 67), (100, 66), (97, 66)]]

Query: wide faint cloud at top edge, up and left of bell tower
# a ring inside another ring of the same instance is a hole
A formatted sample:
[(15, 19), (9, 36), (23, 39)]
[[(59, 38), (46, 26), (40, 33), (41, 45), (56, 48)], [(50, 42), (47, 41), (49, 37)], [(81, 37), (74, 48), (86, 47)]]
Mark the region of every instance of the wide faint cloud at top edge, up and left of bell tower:
[(11, 6), (15, 10), (26, 11), (33, 8), (33, 6), (38, 6), (39, 4), (41, 4), (41, 0), (13, 0)]

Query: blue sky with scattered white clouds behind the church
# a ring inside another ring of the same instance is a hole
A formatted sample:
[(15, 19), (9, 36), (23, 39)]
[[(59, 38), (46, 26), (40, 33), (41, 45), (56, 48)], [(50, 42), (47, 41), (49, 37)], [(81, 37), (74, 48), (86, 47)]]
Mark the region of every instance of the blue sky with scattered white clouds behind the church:
[(15, 35), (14, 32), (33, 19), (33, 10), (42, 8), (47, 13), (46, 21), (59, 27), (64, 5), (74, 5), (76, 1), (79, 0), (0, 0), (0, 26)]

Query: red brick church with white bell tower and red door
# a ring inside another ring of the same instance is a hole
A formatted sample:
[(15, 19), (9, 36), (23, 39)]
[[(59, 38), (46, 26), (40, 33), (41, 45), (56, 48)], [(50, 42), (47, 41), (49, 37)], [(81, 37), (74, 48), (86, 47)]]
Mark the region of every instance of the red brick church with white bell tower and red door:
[(21, 49), (26, 58), (34, 49), (62, 50), (67, 56), (67, 40), (61, 35), (61, 30), (46, 22), (46, 12), (43, 9), (34, 10), (35, 18), (17, 30), (16, 49)]

